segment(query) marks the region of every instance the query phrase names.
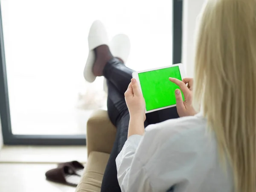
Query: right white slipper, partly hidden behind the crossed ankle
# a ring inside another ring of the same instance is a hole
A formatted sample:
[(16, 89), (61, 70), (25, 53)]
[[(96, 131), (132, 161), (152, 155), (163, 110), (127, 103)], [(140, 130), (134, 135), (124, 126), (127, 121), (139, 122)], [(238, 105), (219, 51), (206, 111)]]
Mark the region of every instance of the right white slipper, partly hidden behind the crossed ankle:
[[(109, 43), (109, 49), (114, 57), (122, 59), (125, 64), (131, 51), (130, 39), (124, 34), (116, 35)], [(103, 82), (103, 90), (108, 93), (108, 84), (105, 78)]]

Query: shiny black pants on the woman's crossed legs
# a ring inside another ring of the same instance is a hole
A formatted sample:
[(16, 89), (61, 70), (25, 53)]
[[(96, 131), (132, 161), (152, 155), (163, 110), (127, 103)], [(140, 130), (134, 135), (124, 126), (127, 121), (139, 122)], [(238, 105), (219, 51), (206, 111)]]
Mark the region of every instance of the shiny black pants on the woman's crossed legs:
[[(117, 133), (103, 176), (101, 192), (121, 192), (117, 180), (116, 157), (127, 140), (130, 116), (124, 93), (131, 82), (133, 72), (116, 58), (109, 61), (103, 71), (105, 78), (108, 80), (108, 116), (113, 125), (116, 126)], [(155, 111), (146, 114), (144, 125), (147, 127), (150, 124), (178, 117), (176, 107)]]

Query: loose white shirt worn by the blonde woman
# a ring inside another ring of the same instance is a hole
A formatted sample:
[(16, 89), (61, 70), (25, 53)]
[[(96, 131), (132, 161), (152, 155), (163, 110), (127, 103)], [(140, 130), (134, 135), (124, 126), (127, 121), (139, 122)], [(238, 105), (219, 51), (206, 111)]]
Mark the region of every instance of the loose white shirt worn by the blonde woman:
[(200, 114), (171, 119), (132, 135), (116, 157), (122, 192), (233, 192), (214, 133)]

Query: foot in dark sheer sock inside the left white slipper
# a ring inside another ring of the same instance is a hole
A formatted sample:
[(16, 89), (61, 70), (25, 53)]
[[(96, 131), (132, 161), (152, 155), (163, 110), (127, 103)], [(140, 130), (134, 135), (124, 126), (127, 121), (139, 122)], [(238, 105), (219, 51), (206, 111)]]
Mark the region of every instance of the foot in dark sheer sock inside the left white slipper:
[(95, 52), (95, 62), (93, 64), (93, 74), (95, 76), (103, 76), (103, 69), (108, 61), (113, 58), (108, 45), (101, 45), (94, 49)]

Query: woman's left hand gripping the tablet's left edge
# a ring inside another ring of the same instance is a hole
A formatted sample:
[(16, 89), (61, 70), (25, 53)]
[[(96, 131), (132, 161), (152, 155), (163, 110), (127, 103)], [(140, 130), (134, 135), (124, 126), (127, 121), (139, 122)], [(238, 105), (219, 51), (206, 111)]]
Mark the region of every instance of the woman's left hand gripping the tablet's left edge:
[(146, 119), (145, 99), (139, 89), (136, 79), (131, 79), (131, 83), (125, 92), (125, 102), (128, 107), (131, 119)]

